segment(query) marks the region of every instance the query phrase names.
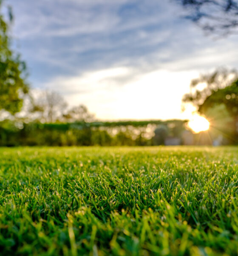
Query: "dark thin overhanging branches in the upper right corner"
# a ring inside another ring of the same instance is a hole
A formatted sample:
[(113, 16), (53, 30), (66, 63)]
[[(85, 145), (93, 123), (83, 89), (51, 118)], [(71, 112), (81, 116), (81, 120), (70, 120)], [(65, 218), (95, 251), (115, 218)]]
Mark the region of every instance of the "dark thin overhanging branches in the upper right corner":
[(226, 35), (237, 32), (237, 0), (175, 0), (187, 10), (185, 17), (205, 32)]

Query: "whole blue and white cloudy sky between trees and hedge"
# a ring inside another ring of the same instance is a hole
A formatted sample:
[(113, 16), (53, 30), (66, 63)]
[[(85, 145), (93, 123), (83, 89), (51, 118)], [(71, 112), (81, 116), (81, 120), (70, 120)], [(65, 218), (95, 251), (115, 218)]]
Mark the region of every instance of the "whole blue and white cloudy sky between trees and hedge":
[(31, 87), (102, 120), (187, 119), (190, 80), (238, 67), (238, 36), (204, 35), (173, 0), (6, 0)]

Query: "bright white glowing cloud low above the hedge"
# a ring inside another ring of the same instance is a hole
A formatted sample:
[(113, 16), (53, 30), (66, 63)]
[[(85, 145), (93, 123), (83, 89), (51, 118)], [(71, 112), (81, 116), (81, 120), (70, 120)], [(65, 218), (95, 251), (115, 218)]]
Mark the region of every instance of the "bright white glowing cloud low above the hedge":
[(116, 67), (60, 77), (45, 87), (60, 92), (71, 105), (87, 105), (100, 119), (186, 118), (181, 114), (181, 97), (197, 75), (167, 70), (139, 74), (133, 68)]

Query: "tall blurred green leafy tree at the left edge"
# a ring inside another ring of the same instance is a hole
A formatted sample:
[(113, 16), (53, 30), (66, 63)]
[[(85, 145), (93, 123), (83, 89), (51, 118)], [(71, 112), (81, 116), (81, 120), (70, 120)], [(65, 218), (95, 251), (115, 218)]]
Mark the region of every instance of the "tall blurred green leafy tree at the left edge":
[[(2, 0), (0, 0), (0, 8)], [(13, 19), (9, 12), (9, 22)], [(10, 49), (9, 23), (0, 15), (0, 110), (11, 114), (23, 106), (23, 95), (28, 93), (26, 64)]]

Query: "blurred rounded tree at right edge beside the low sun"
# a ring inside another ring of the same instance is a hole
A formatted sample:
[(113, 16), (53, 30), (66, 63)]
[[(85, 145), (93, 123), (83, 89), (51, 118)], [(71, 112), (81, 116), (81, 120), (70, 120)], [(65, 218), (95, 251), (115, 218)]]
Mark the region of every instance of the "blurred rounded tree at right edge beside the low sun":
[[(203, 89), (199, 86), (203, 84)], [(238, 73), (235, 70), (216, 70), (201, 75), (190, 84), (190, 93), (183, 103), (193, 104), (210, 121), (213, 137), (222, 134), (230, 143), (238, 142)]]

